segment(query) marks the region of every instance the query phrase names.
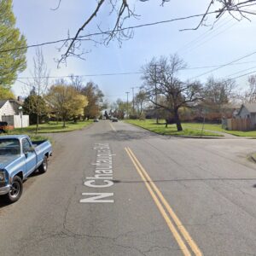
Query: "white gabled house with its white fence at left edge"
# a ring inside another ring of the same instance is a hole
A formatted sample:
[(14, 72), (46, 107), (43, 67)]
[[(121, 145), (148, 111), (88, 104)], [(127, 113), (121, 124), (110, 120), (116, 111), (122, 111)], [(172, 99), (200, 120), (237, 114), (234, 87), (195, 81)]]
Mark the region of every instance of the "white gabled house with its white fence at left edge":
[(0, 121), (8, 122), (15, 128), (28, 126), (29, 116), (23, 115), (20, 107), (22, 107), (22, 103), (16, 100), (0, 101)]

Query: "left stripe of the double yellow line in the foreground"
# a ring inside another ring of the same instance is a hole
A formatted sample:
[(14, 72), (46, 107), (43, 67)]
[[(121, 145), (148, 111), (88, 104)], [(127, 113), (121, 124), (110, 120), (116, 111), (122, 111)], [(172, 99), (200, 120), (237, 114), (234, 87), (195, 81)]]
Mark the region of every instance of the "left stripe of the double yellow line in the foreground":
[(165, 218), (166, 220), (166, 224), (168, 225), (169, 229), (172, 232), (172, 235), (174, 236), (174, 238), (177, 241), (177, 244), (179, 245), (179, 247), (181, 248), (183, 254), (185, 256), (191, 256), (191, 254), (189, 253), (189, 249), (188, 247), (185, 245), (185, 243), (183, 242), (183, 239), (181, 238), (181, 236), (178, 234), (176, 228), (174, 227), (174, 225), (172, 224), (172, 220), (168, 217), (164, 207), (162, 207), (159, 199), (157, 198), (157, 196), (154, 194), (153, 189), (151, 189), (151, 187), (149, 186), (146, 178), (143, 176), (143, 172), (141, 172), (140, 168), (137, 166), (136, 161), (133, 159), (130, 151), (130, 148), (125, 148), (126, 153), (129, 155), (129, 157), (131, 158), (131, 161), (133, 163), (133, 165), (135, 166), (135, 168), (137, 169), (137, 172), (139, 173), (139, 175), (142, 177), (143, 182), (145, 183), (148, 192), (150, 193), (150, 195), (152, 196), (154, 203), (156, 204), (156, 206), (158, 207), (158, 209), (160, 210), (160, 213), (162, 214), (163, 218)]

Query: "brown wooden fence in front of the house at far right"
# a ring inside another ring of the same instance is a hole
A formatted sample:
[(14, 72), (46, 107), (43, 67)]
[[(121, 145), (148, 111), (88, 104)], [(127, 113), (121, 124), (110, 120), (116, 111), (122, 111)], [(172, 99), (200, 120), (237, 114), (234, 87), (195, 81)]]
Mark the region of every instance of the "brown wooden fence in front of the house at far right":
[(230, 131), (250, 131), (253, 129), (251, 119), (223, 119), (222, 126)]

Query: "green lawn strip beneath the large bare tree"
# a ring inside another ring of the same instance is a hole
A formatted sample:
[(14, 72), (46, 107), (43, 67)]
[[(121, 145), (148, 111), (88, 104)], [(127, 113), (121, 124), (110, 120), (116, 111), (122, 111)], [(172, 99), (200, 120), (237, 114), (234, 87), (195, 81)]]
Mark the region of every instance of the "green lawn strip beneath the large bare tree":
[(221, 137), (221, 135), (214, 133), (214, 132), (209, 132), (209, 131), (203, 131), (201, 133), (198, 128), (194, 127), (183, 127), (183, 131), (177, 131), (176, 125), (168, 125), (166, 128), (166, 125), (164, 122), (161, 122), (159, 125), (156, 125), (154, 119), (149, 119), (149, 120), (126, 120), (125, 122), (132, 124), (132, 125), (137, 125), (140, 126), (148, 131), (153, 131), (158, 134), (162, 135), (176, 135), (176, 136), (195, 136), (195, 137), (200, 137), (202, 136), (211, 136), (211, 137)]

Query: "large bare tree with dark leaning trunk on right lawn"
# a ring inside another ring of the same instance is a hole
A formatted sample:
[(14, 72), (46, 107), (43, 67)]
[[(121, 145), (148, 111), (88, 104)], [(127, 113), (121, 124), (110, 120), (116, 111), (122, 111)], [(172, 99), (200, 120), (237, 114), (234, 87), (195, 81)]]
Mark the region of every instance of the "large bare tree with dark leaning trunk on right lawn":
[[(162, 56), (159, 60), (152, 59), (143, 66), (143, 89), (148, 93), (149, 101), (170, 113), (177, 125), (177, 131), (183, 131), (179, 108), (192, 108), (194, 103), (201, 99), (199, 82), (189, 83), (178, 79), (178, 72), (184, 67), (185, 63), (177, 55), (170, 55), (169, 58)], [(164, 101), (157, 101), (155, 93)]]

